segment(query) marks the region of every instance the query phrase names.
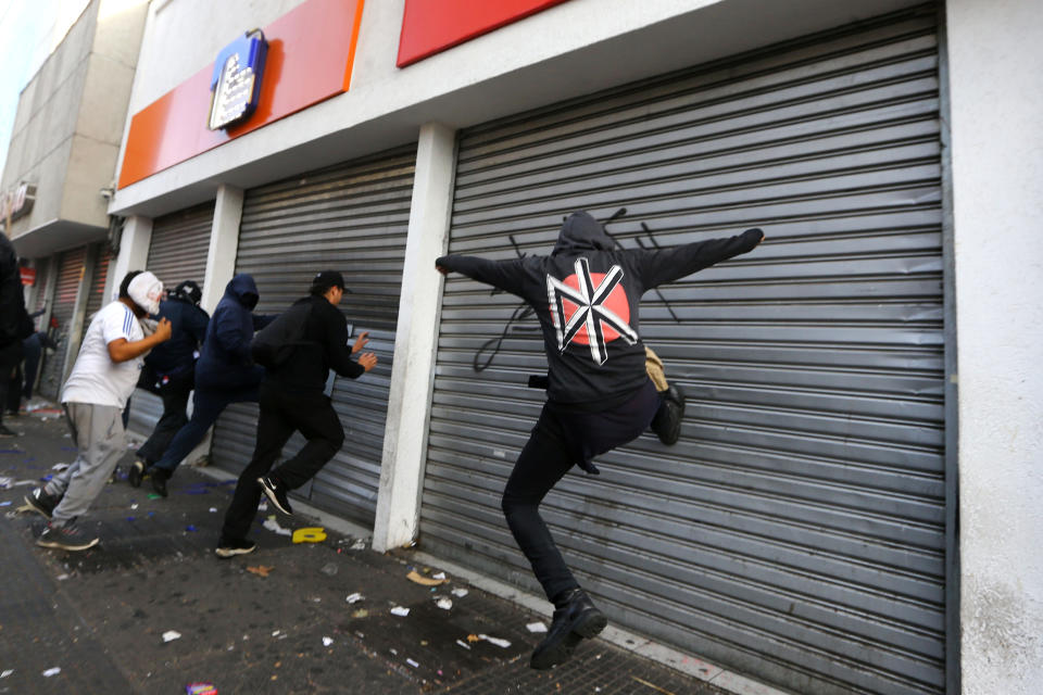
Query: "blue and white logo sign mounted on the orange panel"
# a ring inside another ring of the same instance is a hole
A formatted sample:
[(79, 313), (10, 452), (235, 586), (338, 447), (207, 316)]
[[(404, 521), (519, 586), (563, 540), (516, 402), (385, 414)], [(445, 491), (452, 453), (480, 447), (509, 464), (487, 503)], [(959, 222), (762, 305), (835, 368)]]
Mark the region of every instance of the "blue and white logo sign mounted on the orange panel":
[(250, 117), (261, 98), (261, 78), (268, 42), (261, 29), (247, 31), (229, 43), (214, 61), (210, 78), (211, 130), (228, 128)]

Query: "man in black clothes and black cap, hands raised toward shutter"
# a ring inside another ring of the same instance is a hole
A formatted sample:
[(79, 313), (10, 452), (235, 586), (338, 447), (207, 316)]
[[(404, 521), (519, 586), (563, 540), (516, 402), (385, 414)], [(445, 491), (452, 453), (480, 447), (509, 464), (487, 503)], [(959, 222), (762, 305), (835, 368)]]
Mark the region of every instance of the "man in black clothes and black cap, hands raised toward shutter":
[[(303, 336), (293, 340), (292, 352), (285, 361), (265, 371), (253, 458), (239, 476), (225, 514), (215, 551), (218, 557), (253, 552), (256, 543), (247, 539), (247, 533), (257, 514), (261, 494), (282, 514), (293, 514), (287, 493), (311, 480), (344, 443), (344, 427), (325, 393), (329, 370), (357, 379), (377, 365), (377, 356), (367, 352), (359, 355), (359, 362), (351, 358), (366, 345), (368, 332), (348, 345), (348, 320), (337, 308), (343, 295), (340, 273), (323, 270), (312, 281), (309, 295), (287, 309), (287, 314), (301, 313)], [(300, 431), (307, 443), (272, 470), (294, 431)]]

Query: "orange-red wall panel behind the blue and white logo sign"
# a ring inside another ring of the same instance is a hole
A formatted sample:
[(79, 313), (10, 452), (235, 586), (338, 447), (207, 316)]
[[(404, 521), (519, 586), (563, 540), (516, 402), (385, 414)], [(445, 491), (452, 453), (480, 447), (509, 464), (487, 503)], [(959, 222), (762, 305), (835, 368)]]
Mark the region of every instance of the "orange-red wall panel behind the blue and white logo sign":
[(310, 0), (264, 27), (261, 97), (246, 123), (227, 131), (206, 128), (213, 63), (136, 113), (120, 188), (348, 91), (363, 2)]

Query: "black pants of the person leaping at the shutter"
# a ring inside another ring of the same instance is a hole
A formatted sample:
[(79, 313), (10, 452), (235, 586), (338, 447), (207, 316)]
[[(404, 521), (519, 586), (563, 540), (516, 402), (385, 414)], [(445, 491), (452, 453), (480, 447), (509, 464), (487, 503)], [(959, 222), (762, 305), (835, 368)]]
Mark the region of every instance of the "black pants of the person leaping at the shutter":
[(651, 381), (623, 405), (601, 413), (544, 404), (507, 480), (501, 506), (514, 540), (552, 603), (579, 583), (540, 516), (540, 503), (573, 464), (590, 462), (637, 439), (658, 406), (659, 394)]

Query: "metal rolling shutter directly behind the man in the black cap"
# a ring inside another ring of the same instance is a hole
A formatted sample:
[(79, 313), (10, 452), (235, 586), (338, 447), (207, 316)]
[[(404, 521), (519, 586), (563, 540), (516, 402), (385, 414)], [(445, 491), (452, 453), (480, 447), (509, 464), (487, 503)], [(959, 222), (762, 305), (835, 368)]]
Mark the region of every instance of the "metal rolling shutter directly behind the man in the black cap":
[[(413, 192), (416, 147), (385, 153), (248, 191), (237, 273), (253, 275), (260, 313), (278, 313), (307, 292), (314, 274), (334, 268), (351, 290), (340, 309), (369, 331), (378, 366), (359, 379), (337, 379), (334, 405), (344, 425), (337, 456), (297, 491), (316, 506), (373, 523), (384, 448), (391, 355)], [(257, 406), (229, 407), (217, 422), (214, 462), (241, 470), (250, 460)], [(284, 450), (303, 445), (300, 434)]]

